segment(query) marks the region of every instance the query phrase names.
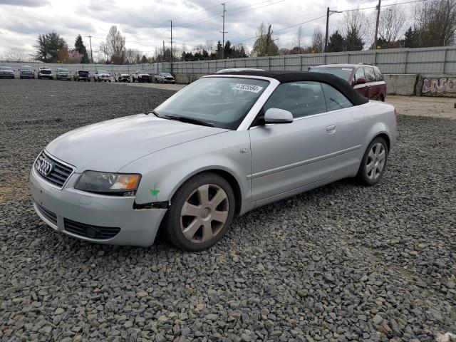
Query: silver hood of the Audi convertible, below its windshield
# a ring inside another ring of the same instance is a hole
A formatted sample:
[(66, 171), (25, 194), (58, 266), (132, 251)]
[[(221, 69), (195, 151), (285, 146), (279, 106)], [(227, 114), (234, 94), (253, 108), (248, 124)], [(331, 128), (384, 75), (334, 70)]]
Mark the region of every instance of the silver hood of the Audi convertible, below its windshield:
[(48, 144), (46, 151), (75, 166), (76, 172), (117, 172), (145, 155), (226, 131), (139, 114), (72, 130)]

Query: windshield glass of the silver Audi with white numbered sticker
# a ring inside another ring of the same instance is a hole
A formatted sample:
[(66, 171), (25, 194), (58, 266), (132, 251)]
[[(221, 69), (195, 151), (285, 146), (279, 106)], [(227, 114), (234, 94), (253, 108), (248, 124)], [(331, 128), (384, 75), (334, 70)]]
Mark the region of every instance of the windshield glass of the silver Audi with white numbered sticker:
[(268, 85), (254, 78), (200, 78), (159, 105), (155, 114), (235, 130)]

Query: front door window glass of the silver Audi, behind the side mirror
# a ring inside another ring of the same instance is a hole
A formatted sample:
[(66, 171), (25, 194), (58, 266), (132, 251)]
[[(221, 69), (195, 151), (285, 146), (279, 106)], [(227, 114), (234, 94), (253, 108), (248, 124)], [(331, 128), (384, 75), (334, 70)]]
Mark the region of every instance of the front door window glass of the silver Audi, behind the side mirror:
[(269, 108), (289, 110), (294, 118), (326, 112), (326, 105), (318, 82), (282, 83), (274, 90), (264, 104), (264, 112)]

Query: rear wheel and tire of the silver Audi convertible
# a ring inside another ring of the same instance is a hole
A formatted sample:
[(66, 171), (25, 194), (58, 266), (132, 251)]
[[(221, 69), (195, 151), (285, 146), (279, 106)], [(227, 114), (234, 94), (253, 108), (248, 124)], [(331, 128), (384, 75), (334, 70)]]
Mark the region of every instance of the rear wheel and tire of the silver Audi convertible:
[[(383, 157), (381, 157), (383, 154)], [(371, 187), (380, 182), (388, 164), (388, 145), (385, 139), (377, 137), (364, 152), (356, 179), (362, 185)]]

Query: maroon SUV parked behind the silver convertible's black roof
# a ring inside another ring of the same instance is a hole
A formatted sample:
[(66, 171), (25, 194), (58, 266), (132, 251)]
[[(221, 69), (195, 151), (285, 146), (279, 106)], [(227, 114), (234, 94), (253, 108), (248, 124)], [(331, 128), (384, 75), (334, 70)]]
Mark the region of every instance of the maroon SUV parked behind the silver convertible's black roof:
[(384, 101), (386, 82), (380, 69), (371, 64), (327, 64), (314, 66), (314, 73), (332, 73), (350, 83), (361, 95), (371, 100)]

